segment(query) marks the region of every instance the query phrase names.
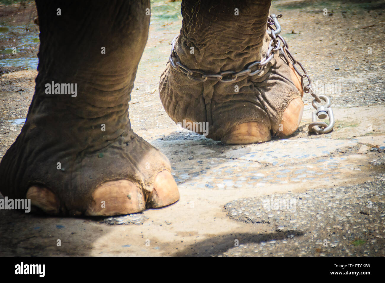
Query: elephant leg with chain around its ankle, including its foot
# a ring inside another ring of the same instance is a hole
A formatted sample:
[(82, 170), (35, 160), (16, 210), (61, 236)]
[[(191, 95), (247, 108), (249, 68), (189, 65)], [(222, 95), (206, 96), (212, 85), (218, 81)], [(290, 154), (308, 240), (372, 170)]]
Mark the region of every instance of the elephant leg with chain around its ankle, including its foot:
[[(270, 42), (266, 32), (270, 4), (270, 0), (182, 0), (176, 61), (207, 74), (238, 72), (261, 61)], [(288, 136), (301, 121), (303, 90), (300, 77), (283, 58), (275, 54), (262, 72), (234, 82), (194, 81), (168, 62), (159, 84), (162, 104), (175, 122), (207, 122), (207, 137), (227, 144)]]

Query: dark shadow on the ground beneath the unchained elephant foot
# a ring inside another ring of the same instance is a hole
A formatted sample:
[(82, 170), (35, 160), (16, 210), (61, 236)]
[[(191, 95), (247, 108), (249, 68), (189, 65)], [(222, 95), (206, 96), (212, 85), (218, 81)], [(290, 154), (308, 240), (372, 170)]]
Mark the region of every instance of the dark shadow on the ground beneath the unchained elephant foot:
[(95, 225), (86, 218), (1, 209), (0, 256), (87, 256), (95, 238), (107, 233)]

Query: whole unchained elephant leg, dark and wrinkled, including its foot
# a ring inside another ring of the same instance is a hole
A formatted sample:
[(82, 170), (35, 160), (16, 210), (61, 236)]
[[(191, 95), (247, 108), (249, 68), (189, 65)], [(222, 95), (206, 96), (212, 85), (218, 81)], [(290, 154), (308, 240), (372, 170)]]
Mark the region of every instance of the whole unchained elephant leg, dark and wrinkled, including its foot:
[(167, 157), (129, 120), (150, 1), (36, 4), (39, 74), (25, 125), (0, 164), (1, 193), (66, 215), (129, 214), (176, 202)]

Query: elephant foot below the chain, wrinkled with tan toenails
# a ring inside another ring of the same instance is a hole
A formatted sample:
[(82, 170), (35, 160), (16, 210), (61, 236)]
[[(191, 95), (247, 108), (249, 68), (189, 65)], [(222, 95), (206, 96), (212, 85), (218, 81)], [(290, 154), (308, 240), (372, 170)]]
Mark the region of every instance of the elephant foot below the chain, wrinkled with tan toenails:
[(278, 54), (260, 75), (232, 83), (192, 81), (167, 64), (159, 91), (176, 123), (208, 123), (207, 137), (226, 144), (289, 136), (298, 129), (304, 108), (300, 77)]

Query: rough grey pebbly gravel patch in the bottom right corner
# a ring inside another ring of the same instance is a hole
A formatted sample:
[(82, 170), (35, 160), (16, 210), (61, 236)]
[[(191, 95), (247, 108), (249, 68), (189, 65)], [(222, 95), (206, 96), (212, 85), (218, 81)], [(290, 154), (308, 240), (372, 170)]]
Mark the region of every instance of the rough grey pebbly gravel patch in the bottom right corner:
[(228, 217), (273, 225), (276, 236), (226, 256), (384, 256), (385, 174), (349, 187), (311, 189), (227, 203)]

